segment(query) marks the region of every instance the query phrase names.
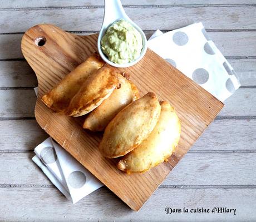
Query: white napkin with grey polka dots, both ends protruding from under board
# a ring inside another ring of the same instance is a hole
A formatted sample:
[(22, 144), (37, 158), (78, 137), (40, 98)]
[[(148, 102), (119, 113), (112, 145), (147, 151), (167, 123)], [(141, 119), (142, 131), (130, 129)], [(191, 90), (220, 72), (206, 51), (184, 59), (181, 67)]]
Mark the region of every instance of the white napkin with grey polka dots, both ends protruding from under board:
[[(148, 46), (220, 101), (240, 86), (232, 66), (209, 40), (202, 23), (164, 34), (157, 30), (149, 39)], [(35, 91), (37, 93), (37, 88)], [(102, 186), (50, 137), (35, 148), (35, 153), (32, 160), (73, 203)]]

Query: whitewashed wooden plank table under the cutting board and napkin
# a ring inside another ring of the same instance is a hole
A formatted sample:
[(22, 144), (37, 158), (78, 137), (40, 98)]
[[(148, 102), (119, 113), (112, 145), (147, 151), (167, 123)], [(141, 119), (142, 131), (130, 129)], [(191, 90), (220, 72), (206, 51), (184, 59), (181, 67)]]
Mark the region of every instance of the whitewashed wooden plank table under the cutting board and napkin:
[[(47, 135), (34, 117), (36, 76), (21, 54), (24, 31), (53, 23), (99, 31), (104, 1), (0, 1), (0, 221), (256, 220), (256, 1), (123, 0), (149, 37), (203, 22), (242, 86), (139, 213), (101, 188), (72, 205), (31, 161)], [(165, 208), (227, 207), (234, 214), (172, 213)]]

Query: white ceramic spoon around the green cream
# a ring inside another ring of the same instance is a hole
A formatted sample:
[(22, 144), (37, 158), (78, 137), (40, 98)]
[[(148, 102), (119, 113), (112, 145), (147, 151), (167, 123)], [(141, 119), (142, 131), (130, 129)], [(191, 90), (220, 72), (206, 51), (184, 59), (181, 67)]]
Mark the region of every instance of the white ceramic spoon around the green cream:
[[(105, 56), (105, 54), (102, 52), (101, 43), (100, 43), (101, 38), (104, 36), (105, 32), (107, 31), (107, 28), (109, 28), (111, 26), (111, 24), (113, 24), (115, 21), (118, 21), (120, 19), (124, 19), (125, 21), (131, 23), (131, 25), (134, 26), (134, 28), (136, 28), (137, 31), (140, 32), (141, 37), (142, 37), (142, 43), (143, 43), (143, 47), (142, 47), (140, 56), (138, 58), (136, 58), (136, 60), (129, 62), (129, 63), (124, 63), (124, 64), (116, 64), (114, 62), (111, 62)], [(98, 41), (97, 41), (98, 51), (99, 51), (99, 54), (100, 54), (102, 60), (104, 60), (106, 63), (109, 63), (109, 65), (115, 66), (115, 67), (124, 68), (124, 67), (133, 66), (137, 62), (139, 62), (141, 60), (141, 58), (145, 55), (146, 50), (147, 50), (146, 45), (147, 45), (147, 39), (146, 39), (144, 32), (141, 30), (141, 28), (139, 26), (137, 26), (134, 22), (132, 22), (131, 19), (127, 16), (124, 8), (122, 7), (120, 0), (105, 0), (104, 19), (102, 22), (101, 30), (100, 30)]]

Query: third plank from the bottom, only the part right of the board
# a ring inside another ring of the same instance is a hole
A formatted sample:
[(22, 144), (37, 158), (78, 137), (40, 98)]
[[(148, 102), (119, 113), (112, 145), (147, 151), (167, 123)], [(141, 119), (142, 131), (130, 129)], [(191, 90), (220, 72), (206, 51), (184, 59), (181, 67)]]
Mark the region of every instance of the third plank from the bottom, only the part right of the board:
[(215, 120), (195, 142), (191, 151), (254, 151), (255, 129), (255, 119)]

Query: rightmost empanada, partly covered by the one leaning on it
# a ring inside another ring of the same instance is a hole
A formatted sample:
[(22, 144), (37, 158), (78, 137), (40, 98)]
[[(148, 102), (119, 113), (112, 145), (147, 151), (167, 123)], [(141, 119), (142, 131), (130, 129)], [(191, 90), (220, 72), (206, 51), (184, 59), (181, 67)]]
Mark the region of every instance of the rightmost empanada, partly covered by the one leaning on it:
[(180, 121), (174, 108), (166, 101), (161, 102), (159, 120), (149, 137), (129, 152), (117, 167), (130, 172), (145, 172), (167, 160), (178, 145), (180, 138)]

